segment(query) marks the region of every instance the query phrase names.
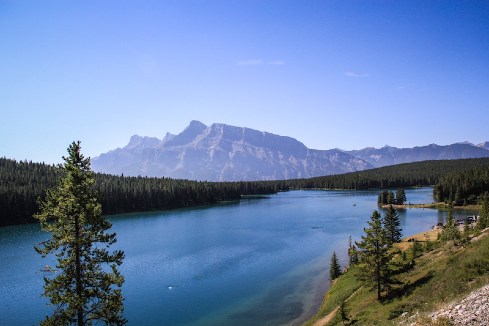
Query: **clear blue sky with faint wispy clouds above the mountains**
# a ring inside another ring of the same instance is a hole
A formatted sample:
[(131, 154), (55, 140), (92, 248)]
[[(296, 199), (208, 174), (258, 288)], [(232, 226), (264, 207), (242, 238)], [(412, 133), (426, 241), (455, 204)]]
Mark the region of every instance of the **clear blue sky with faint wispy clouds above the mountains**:
[(0, 156), (194, 119), (313, 149), (489, 140), (489, 2), (0, 0)]

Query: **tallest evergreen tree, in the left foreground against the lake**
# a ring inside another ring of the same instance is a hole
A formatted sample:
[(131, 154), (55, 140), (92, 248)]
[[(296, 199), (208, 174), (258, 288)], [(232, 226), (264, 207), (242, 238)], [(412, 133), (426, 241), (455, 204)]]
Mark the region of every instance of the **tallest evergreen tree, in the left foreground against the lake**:
[[(65, 177), (56, 189), (47, 190), (40, 201), (41, 212), (36, 218), (51, 238), (36, 246), (45, 257), (56, 254), (56, 277), (44, 277), (44, 297), (54, 305), (51, 317), (40, 325), (124, 325), (121, 290), (124, 282), (116, 266), (124, 253), (109, 254), (106, 247), (116, 241), (115, 233), (106, 233), (111, 224), (102, 218), (98, 193), (92, 193), (93, 172), (90, 159), (80, 153), (80, 142), (68, 148), (68, 157), (61, 169)], [(51, 222), (53, 221), (53, 222)], [(110, 266), (108, 273), (105, 264)], [(46, 267), (46, 271), (53, 271)]]

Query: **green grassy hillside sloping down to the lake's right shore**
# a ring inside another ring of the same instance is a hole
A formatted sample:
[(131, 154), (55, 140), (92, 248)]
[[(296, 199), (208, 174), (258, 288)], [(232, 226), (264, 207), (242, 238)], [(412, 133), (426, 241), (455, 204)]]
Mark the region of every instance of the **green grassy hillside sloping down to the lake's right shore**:
[[(422, 239), (422, 234), (418, 235)], [(403, 284), (384, 293), (378, 302), (377, 293), (361, 287), (353, 270), (341, 275), (325, 295), (319, 312), (303, 326), (340, 326), (343, 322), (335, 310), (346, 300), (350, 325), (399, 325), (409, 316), (409, 323), (418, 325), (450, 325), (447, 320), (432, 324), (427, 315), (445, 303), (460, 299), (467, 293), (489, 284), (489, 231), (464, 245), (431, 241), (431, 250), (415, 258), (414, 268), (400, 275)], [(412, 258), (413, 242), (402, 242), (407, 259)], [(402, 255), (400, 255), (402, 256)], [(400, 257), (399, 256), (399, 257)], [(329, 315), (329, 316), (328, 316)], [(325, 319), (328, 316), (328, 320)]]

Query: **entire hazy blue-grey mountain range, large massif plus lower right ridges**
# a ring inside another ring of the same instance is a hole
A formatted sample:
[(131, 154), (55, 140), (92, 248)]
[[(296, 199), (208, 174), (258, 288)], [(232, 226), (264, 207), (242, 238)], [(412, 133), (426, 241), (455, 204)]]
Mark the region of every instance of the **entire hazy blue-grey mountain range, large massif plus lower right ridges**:
[(425, 160), (489, 157), (489, 143), (314, 150), (290, 137), (192, 121), (180, 134), (134, 135), (123, 148), (92, 159), (92, 169), (127, 176), (207, 181), (311, 178)]

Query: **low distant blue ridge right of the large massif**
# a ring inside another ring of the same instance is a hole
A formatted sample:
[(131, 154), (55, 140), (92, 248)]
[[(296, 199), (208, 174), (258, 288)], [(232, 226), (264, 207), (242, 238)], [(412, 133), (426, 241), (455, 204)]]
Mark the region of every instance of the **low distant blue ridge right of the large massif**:
[(385, 145), (382, 148), (367, 147), (360, 150), (343, 152), (362, 159), (375, 167), (381, 167), (428, 160), (489, 157), (488, 147), (489, 143), (487, 141), (477, 146), (465, 141), (446, 146), (430, 144), (413, 148), (396, 148)]

